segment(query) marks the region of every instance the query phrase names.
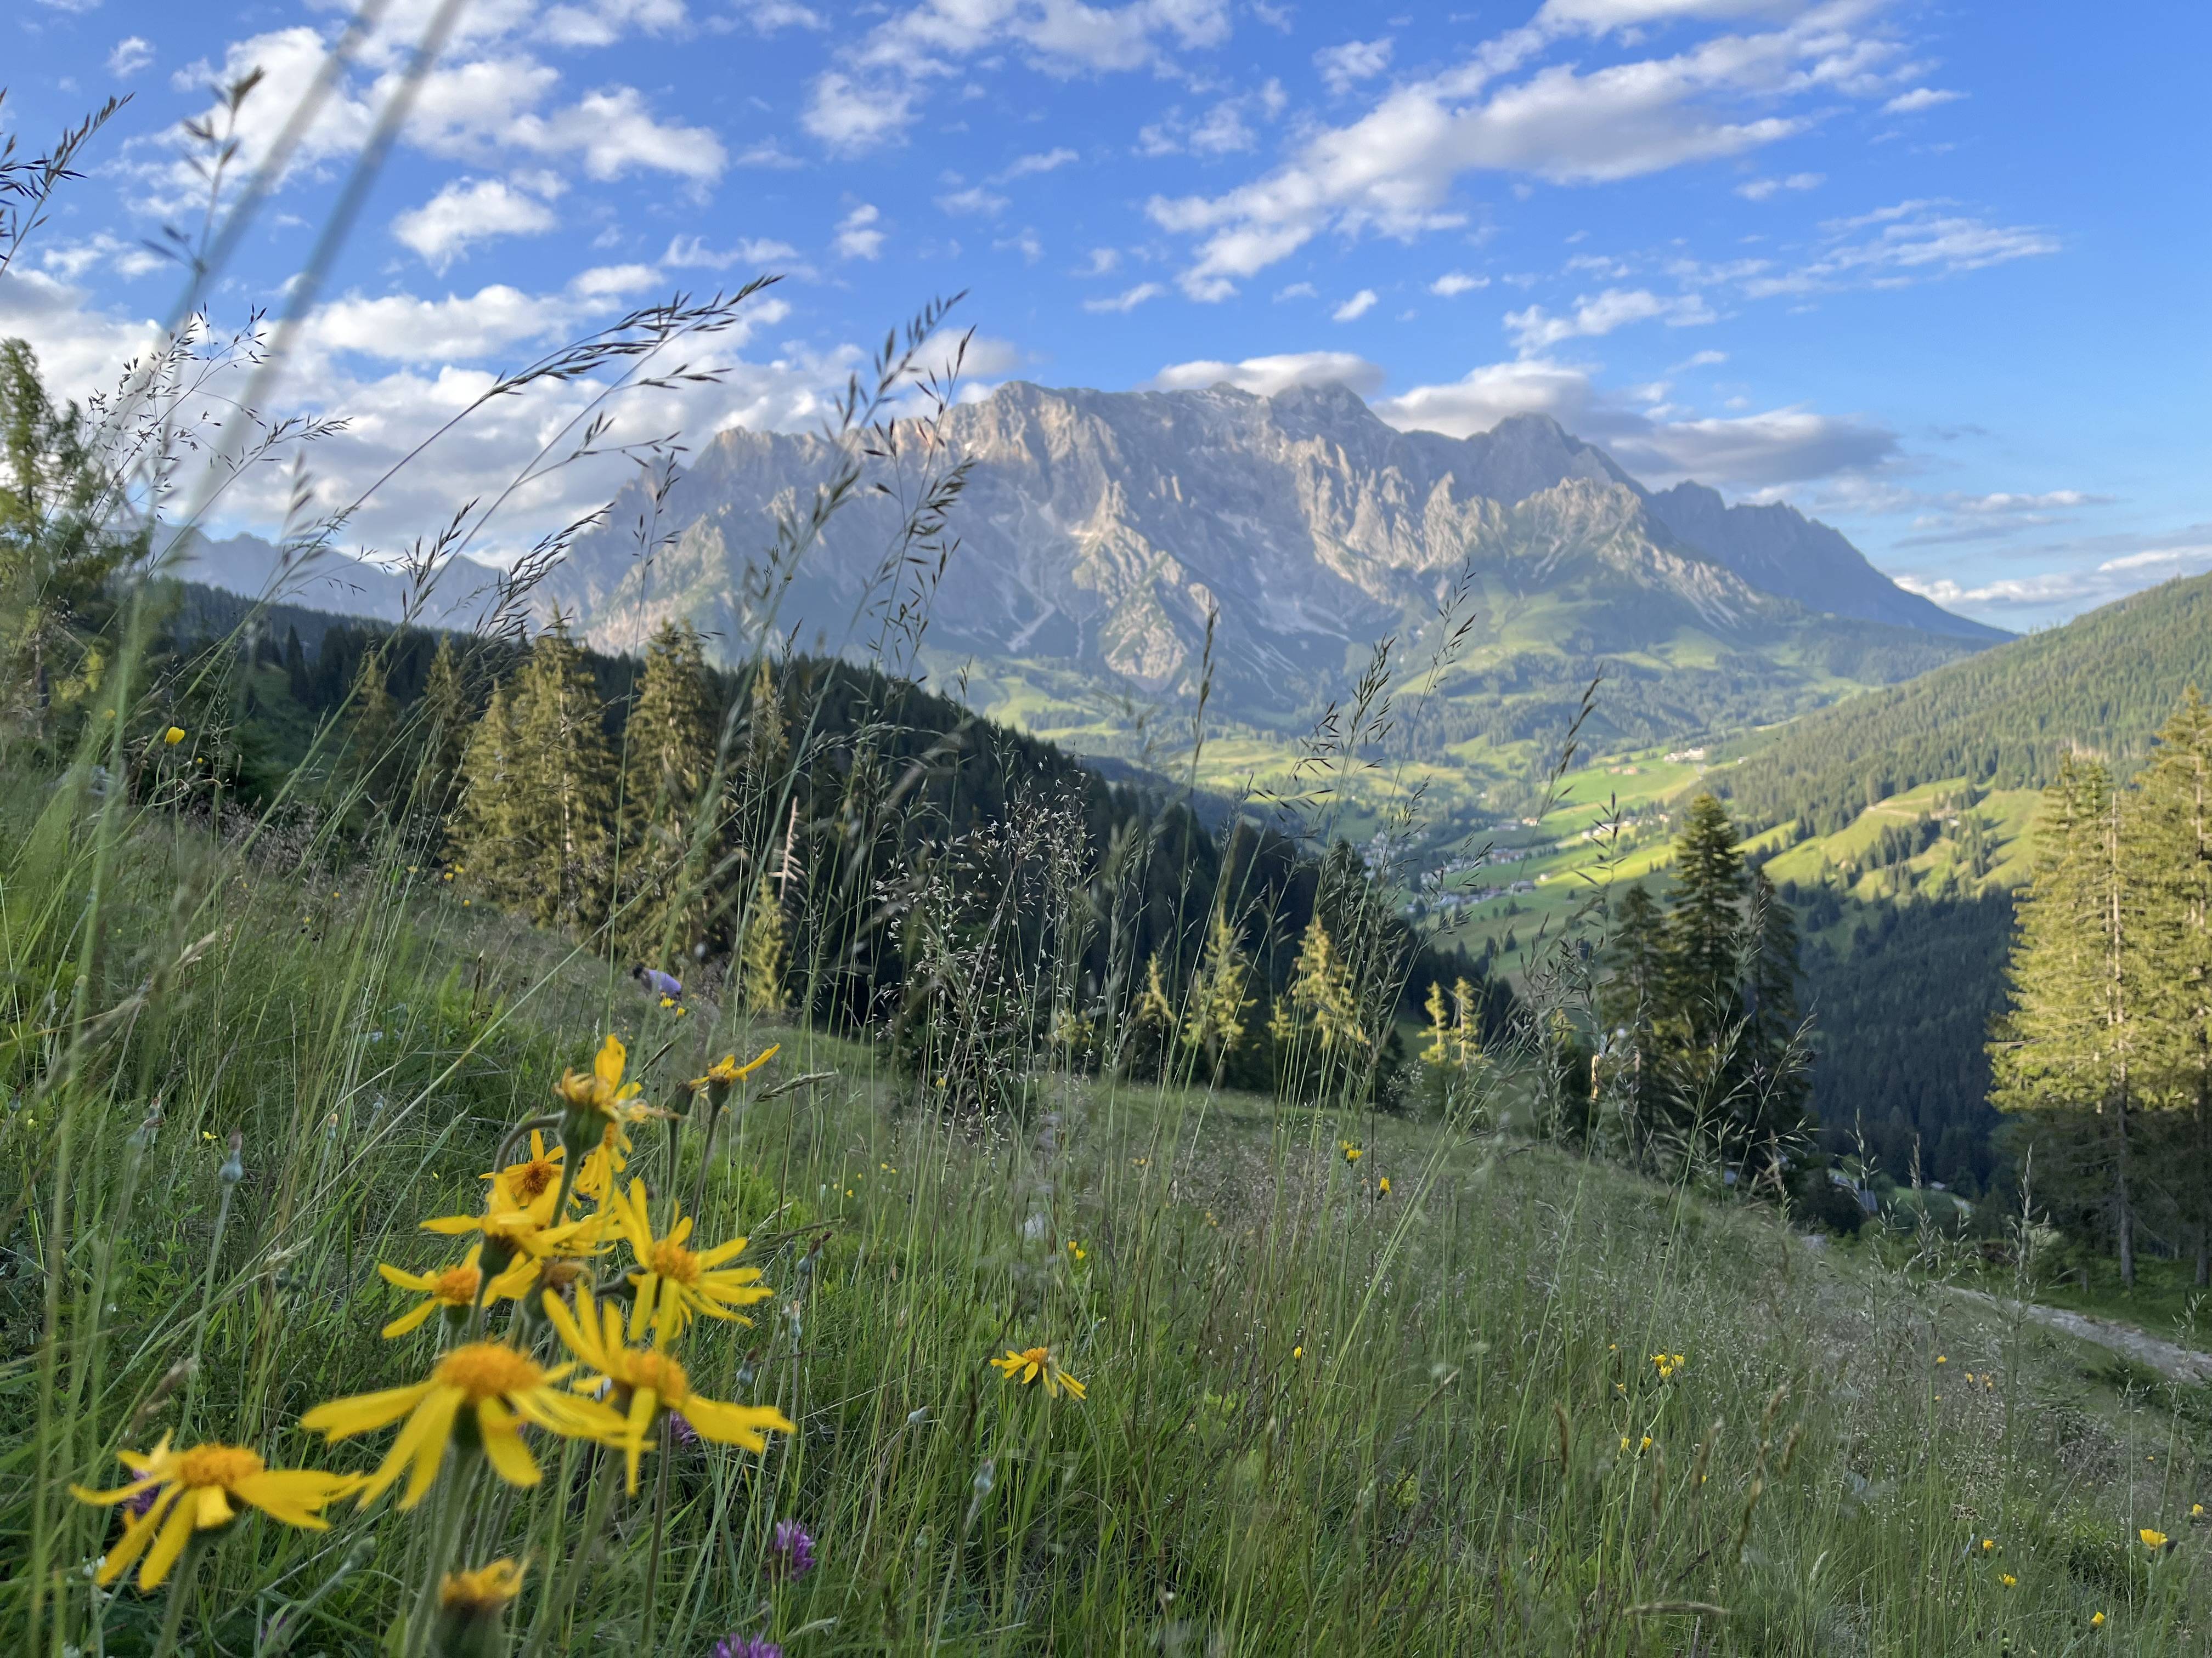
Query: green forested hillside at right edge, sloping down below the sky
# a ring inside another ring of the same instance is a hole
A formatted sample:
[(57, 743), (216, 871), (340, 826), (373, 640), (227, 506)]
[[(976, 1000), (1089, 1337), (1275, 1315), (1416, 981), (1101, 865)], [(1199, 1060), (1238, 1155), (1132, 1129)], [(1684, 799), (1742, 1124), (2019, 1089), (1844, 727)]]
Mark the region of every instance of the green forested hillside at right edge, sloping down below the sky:
[(2073, 749), (2128, 772), (2188, 685), (2212, 685), (2212, 575), (1807, 714), (1714, 783), (1745, 825), (1827, 836), (1922, 783), (2042, 787)]

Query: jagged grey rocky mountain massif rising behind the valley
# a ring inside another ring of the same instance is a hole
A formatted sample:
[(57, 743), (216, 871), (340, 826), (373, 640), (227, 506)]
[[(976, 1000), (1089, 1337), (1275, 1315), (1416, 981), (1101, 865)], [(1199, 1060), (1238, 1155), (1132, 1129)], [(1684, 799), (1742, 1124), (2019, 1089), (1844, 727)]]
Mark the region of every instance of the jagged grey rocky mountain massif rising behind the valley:
[[(1493, 679), (1621, 659), (1869, 683), (2002, 637), (1787, 506), (1730, 508), (1697, 484), (1652, 495), (1542, 416), (1458, 440), (1396, 431), (1340, 387), (1013, 382), (956, 409), (947, 436), (971, 473), (933, 579), (940, 665), (1190, 694), (1212, 617), (1223, 710), (1276, 723), (1340, 694), (1385, 634), (1425, 661), (1444, 610), (1471, 619), (1455, 672)], [(887, 564), (894, 497), (838, 517), (787, 581), (768, 562), (776, 515), (801, 511), (830, 462), (818, 438), (726, 431), (659, 508), (672, 542), (639, 559), (650, 508), (633, 486), (549, 592), (611, 650), (672, 615), (730, 641), (772, 617), (803, 646), (867, 646), (929, 577)]]

